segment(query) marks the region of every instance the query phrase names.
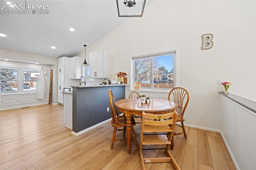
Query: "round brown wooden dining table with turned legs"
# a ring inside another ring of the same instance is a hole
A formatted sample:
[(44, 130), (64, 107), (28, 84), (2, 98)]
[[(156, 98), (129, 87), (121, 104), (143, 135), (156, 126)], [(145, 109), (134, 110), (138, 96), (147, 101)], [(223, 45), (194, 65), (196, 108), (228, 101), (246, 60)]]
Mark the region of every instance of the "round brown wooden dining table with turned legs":
[[(127, 150), (128, 154), (131, 153), (131, 117), (132, 115), (141, 116), (142, 112), (152, 113), (152, 114), (166, 114), (174, 112), (177, 104), (173, 101), (166, 99), (150, 99), (150, 103), (142, 104), (140, 99), (121, 99), (115, 102), (115, 106), (126, 116), (126, 136), (127, 136)], [(171, 148), (174, 146), (174, 141), (172, 138)]]

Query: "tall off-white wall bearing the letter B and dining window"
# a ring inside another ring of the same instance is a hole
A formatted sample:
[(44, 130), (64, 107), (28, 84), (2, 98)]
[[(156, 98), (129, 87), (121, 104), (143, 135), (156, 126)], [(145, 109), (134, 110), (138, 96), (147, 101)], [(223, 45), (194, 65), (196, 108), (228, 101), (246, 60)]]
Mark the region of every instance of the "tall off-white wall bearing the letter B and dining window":
[[(156, 0), (142, 18), (130, 18), (87, 46), (86, 53), (108, 50), (111, 75), (129, 73), (131, 55), (178, 48), (179, 79), (184, 80), (179, 86), (190, 93), (185, 123), (220, 130), (221, 82), (233, 84), (230, 93), (256, 101), (255, 7), (255, 1)], [(202, 50), (207, 33), (214, 45)], [(150, 97), (167, 99), (167, 94)]]

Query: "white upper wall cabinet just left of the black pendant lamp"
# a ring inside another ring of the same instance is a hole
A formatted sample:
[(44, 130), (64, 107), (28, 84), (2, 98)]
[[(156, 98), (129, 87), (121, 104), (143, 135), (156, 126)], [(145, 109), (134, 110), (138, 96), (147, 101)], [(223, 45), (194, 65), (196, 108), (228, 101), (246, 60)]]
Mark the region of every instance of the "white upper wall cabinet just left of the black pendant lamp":
[(70, 58), (70, 79), (80, 79), (82, 76), (82, 57)]

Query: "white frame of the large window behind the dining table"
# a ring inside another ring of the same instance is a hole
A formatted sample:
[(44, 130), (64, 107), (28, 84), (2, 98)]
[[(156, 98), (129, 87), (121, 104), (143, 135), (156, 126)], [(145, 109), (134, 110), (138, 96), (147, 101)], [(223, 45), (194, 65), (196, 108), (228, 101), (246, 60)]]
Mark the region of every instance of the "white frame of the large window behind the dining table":
[[(179, 75), (178, 75), (178, 48), (174, 49), (166, 49), (162, 51), (154, 51), (154, 52), (148, 52), (148, 53), (142, 53), (142, 54), (137, 54), (137, 55), (131, 55), (130, 56), (130, 89), (129, 91), (141, 91), (141, 92), (157, 92), (157, 93), (169, 93), (171, 90), (166, 88), (150, 88), (150, 89), (140, 89), (140, 90), (135, 90), (134, 89), (134, 84), (135, 84), (135, 65), (134, 59), (139, 59), (139, 58), (144, 58), (144, 57), (157, 57), (160, 55), (166, 55), (166, 54), (173, 54), (173, 71), (174, 71), (174, 87), (178, 87), (178, 80), (179, 80)], [(153, 63), (151, 63), (153, 64)], [(151, 67), (152, 69), (152, 67)], [(153, 73), (153, 72), (152, 72)]]

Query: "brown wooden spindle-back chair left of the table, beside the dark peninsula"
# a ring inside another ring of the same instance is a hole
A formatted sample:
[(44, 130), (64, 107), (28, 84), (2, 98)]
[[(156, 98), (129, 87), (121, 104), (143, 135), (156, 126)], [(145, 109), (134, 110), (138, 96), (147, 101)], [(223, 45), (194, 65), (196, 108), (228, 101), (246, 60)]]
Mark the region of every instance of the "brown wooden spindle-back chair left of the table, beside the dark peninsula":
[[(120, 115), (117, 112), (117, 108), (116, 106), (114, 107), (114, 103), (115, 103), (115, 99), (114, 99), (114, 95), (111, 91), (111, 89), (108, 89), (108, 99), (109, 99), (109, 105), (110, 105), (110, 111), (111, 111), (111, 116), (112, 116), (112, 121), (111, 121), (111, 125), (112, 127), (114, 127), (114, 131), (113, 131), (113, 136), (112, 136), (112, 143), (111, 143), (111, 149), (114, 146), (114, 141), (126, 141), (125, 138), (125, 133), (126, 133), (126, 117), (124, 115)], [(139, 148), (137, 139), (136, 139), (136, 134), (134, 131), (133, 126), (136, 125), (134, 118), (132, 117), (131, 119), (132, 121), (132, 134), (133, 134), (133, 138), (136, 144), (137, 149)], [(119, 129), (118, 129), (119, 128)], [(121, 129), (120, 129), (121, 128)], [(123, 139), (116, 139), (116, 131), (123, 131)]]

